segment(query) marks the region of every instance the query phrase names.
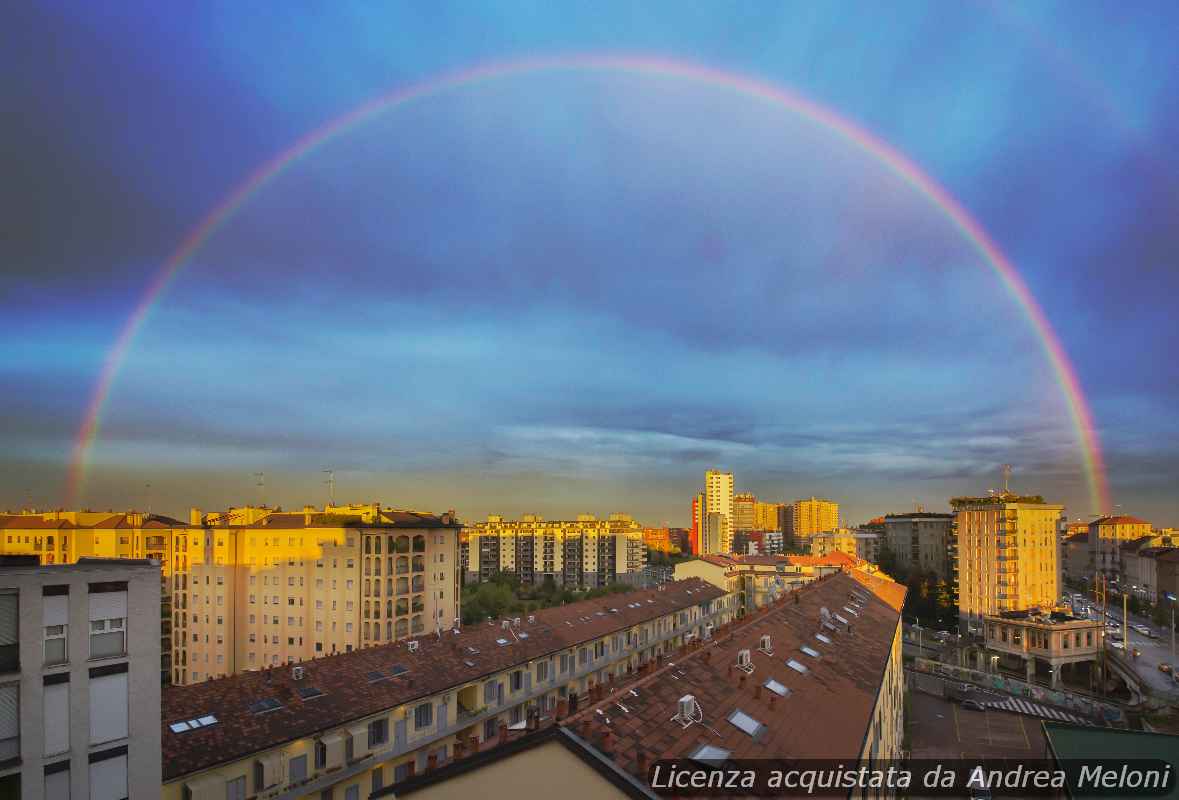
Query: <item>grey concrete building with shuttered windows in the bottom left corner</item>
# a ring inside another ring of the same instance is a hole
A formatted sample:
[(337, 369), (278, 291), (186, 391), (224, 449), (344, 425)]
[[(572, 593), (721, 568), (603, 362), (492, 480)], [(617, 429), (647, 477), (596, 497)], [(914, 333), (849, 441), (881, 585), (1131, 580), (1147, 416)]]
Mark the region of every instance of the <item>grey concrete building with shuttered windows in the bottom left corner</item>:
[(0, 796), (158, 798), (159, 564), (38, 560), (0, 556)]

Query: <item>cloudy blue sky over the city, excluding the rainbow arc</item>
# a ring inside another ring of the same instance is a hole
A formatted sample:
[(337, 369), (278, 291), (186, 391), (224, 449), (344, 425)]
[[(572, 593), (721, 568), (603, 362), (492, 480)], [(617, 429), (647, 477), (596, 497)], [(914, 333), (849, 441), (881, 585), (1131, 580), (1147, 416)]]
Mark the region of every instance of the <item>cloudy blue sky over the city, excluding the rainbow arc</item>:
[[(920, 164), (1043, 305), (1114, 502), (1179, 524), (1168, 4), (6, 14), (0, 508), (61, 502), (104, 355), (250, 171), (399, 86), (577, 52), (778, 84)], [(857, 522), (1005, 462), (1100, 510), (1027, 320), (927, 199), (747, 97), (581, 71), (378, 115), (253, 196), (136, 339), (83, 500), (322, 503), (331, 468), (349, 500), (684, 524), (717, 467)]]

